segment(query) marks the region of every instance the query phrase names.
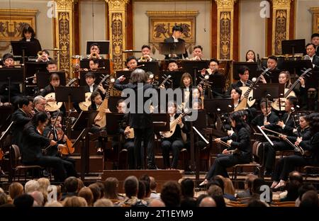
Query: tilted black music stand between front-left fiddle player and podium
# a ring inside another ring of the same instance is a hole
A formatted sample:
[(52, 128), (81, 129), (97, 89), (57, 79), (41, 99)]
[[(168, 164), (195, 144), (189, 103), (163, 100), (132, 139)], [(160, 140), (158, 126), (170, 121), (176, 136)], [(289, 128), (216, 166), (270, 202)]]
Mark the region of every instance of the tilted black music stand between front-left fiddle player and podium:
[[(72, 125), (72, 130), (82, 131), (74, 142), (73, 146), (76, 147), (79, 142), (82, 142), (81, 148), (81, 179), (84, 181), (85, 174), (89, 173), (89, 138), (87, 133), (91, 129), (91, 125), (94, 123), (94, 119), (99, 111), (82, 111), (79, 117)], [(86, 125), (86, 128), (84, 128)]]

